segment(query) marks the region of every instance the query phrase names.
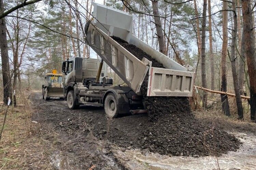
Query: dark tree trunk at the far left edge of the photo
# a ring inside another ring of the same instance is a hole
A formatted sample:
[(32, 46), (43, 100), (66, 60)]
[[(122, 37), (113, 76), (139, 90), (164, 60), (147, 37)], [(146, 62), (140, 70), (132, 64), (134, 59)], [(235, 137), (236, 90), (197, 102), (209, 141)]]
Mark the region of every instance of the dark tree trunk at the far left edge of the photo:
[[(0, 0), (0, 14), (4, 12), (3, 0)], [(5, 18), (0, 19), (0, 50), (3, 74), (3, 98), (4, 103), (8, 103), (8, 97), (12, 96), (10, 64), (8, 55), (8, 46), (6, 38)]]

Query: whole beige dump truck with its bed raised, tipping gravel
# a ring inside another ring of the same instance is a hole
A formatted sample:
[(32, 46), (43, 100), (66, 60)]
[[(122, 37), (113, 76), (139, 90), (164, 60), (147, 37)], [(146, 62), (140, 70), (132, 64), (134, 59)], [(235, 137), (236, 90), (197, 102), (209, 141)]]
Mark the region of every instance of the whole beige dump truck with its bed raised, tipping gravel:
[[(147, 97), (190, 97), (193, 93), (194, 68), (176, 63), (132, 35), (132, 15), (114, 8), (93, 3), (93, 19), (85, 25), (86, 43), (100, 56), (101, 61), (80, 57), (64, 61), (66, 74), (64, 96), (70, 109), (80, 104), (103, 106), (106, 116), (145, 113), (140, 87), (148, 74)], [(111, 36), (126, 40), (161, 63), (164, 68), (152, 67), (152, 61), (139, 60)], [(107, 64), (126, 84), (113, 86), (107, 76)], [(103, 67), (102, 67), (103, 66)], [(98, 69), (96, 71), (96, 69)], [(90, 75), (90, 76), (88, 76)]]

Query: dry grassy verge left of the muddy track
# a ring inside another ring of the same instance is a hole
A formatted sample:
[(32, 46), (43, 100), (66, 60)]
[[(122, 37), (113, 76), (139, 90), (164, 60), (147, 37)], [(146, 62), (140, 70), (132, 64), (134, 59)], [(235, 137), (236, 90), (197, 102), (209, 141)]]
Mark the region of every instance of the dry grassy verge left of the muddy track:
[[(40, 124), (31, 123), (30, 91), (17, 92), (17, 107), (9, 107), (0, 141), (0, 169), (52, 169), (53, 146), (40, 137)], [(2, 125), (6, 106), (0, 106)]]

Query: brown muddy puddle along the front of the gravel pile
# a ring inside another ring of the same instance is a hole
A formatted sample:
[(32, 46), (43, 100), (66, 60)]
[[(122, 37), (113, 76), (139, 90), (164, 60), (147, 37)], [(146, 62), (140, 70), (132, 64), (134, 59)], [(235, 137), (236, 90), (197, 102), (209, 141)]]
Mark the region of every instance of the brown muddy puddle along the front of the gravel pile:
[(141, 153), (140, 150), (128, 150), (126, 154), (137, 161), (147, 164), (150, 169), (255, 169), (256, 137), (253, 134), (233, 134), (243, 142), (237, 152), (229, 152), (221, 157), (183, 157)]

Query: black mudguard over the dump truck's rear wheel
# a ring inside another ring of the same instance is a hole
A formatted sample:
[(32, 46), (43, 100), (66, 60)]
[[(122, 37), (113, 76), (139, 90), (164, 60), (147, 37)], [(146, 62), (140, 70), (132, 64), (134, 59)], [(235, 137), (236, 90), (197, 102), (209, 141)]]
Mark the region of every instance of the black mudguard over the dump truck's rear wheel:
[(120, 114), (129, 113), (130, 112), (129, 99), (126, 97), (125, 92), (123, 90), (114, 90), (114, 89), (107, 90), (103, 96), (102, 103), (104, 104), (106, 96), (108, 96), (108, 94), (110, 93), (114, 94), (116, 98), (116, 103), (117, 103), (117, 106), (119, 107), (119, 113)]

